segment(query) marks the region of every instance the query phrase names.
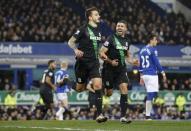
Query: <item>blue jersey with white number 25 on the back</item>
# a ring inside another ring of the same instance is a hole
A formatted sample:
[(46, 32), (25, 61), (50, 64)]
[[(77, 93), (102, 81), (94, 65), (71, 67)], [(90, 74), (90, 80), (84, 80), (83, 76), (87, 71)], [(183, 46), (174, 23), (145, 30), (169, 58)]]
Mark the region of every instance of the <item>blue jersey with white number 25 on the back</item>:
[(143, 75), (156, 75), (163, 69), (158, 60), (158, 52), (152, 46), (145, 46), (139, 52), (140, 72)]

